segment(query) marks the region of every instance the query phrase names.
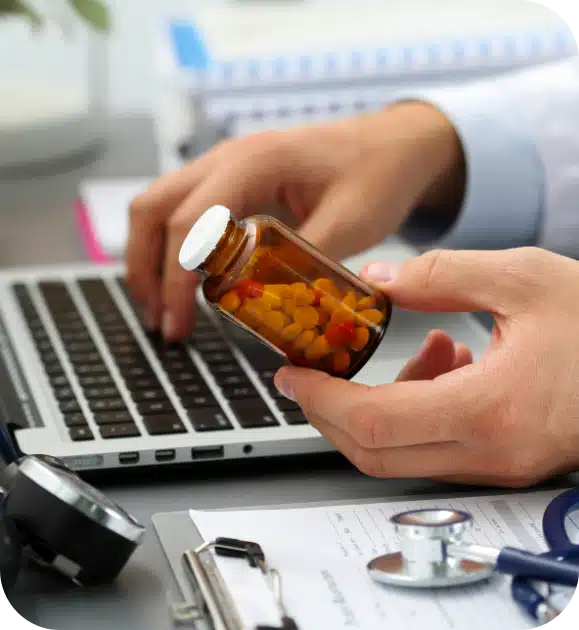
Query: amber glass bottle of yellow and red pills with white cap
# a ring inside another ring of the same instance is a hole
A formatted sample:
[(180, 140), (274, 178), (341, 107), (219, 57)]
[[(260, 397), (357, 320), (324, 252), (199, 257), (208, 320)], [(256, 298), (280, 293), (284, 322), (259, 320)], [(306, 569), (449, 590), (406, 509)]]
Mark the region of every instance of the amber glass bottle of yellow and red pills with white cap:
[(352, 378), (390, 321), (383, 294), (269, 216), (237, 221), (224, 206), (209, 208), (179, 263), (205, 276), (205, 299), (221, 315), (289, 363), (332, 376)]

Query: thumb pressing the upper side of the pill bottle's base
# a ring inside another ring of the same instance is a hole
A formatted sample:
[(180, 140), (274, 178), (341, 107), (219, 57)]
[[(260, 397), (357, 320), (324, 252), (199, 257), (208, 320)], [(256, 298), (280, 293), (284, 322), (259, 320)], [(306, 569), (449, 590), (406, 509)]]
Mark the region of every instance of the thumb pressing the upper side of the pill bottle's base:
[(544, 276), (534, 251), (433, 250), (400, 265), (370, 263), (360, 276), (407, 310), (505, 315), (528, 302)]

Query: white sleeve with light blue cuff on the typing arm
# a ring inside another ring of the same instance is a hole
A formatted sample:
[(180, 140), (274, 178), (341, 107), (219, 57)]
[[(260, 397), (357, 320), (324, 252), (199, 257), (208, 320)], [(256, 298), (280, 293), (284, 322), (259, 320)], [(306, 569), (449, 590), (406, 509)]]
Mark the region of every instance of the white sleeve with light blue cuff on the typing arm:
[[(402, 98), (439, 108), (466, 157), (463, 206), (431, 245), (536, 244), (579, 258), (579, 59)], [(427, 244), (420, 221), (403, 231)]]

